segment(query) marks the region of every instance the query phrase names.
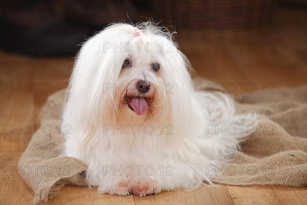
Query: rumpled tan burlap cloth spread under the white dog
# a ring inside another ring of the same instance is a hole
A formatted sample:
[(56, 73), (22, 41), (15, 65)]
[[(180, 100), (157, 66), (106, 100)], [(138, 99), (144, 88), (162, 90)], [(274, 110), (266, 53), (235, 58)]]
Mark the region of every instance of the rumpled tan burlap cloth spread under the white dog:
[[(212, 84), (209, 84), (211, 88)], [(198, 89), (205, 89), (205, 85), (202, 81)], [(215, 91), (210, 89), (210, 92)], [(82, 177), (85, 163), (60, 156), (64, 141), (59, 130), (62, 93), (54, 93), (48, 98), (40, 114), (41, 129), (33, 135), (19, 161), (24, 170), (20, 172), (21, 177), (35, 193), (34, 203), (53, 198), (63, 186), (86, 186)], [(307, 87), (300, 87), (236, 96), (238, 111), (258, 112), (260, 123), (231, 162), (215, 170), (212, 181), (228, 185), (306, 186), (306, 94)]]

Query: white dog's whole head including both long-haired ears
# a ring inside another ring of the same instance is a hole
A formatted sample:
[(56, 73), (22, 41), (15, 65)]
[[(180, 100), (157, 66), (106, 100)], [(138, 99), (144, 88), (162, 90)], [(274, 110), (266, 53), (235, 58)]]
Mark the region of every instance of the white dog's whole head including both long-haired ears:
[(189, 69), (166, 29), (152, 22), (113, 24), (82, 46), (70, 95), (84, 98), (92, 118), (174, 117), (191, 106)]

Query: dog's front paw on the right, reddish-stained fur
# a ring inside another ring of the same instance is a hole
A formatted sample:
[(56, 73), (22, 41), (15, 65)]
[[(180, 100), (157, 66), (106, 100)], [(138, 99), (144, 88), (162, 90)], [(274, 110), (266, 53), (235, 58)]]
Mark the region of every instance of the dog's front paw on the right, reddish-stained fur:
[(132, 186), (131, 190), (135, 195), (142, 197), (150, 194), (157, 194), (160, 192), (157, 184), (153, 180), (139, 181)]

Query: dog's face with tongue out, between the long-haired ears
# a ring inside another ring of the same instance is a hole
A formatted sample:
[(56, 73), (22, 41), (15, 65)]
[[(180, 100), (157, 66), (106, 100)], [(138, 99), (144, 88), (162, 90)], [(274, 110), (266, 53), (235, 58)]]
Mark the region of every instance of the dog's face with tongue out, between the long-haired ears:
[(129, 42), (119, 43), (123, 46), (123, 60), (119, 75), (111, 86), (115, 108), (118, 114), (126, 113), (127, 107), (137, 115), (153, 116), (159, 112), (166, 97), (161, 89), (163, 55), (153, 36), (149, 39), (139, 29), (134, 29), (131, 35)]

